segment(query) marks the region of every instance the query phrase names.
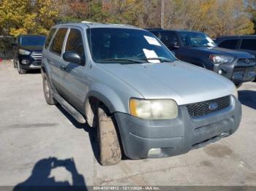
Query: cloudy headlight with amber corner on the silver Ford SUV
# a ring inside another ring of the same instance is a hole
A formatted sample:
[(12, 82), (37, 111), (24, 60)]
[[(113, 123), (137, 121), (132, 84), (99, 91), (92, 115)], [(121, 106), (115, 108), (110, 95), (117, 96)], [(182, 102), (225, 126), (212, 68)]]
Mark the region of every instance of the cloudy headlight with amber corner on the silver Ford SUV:
[(178, 117), (178, 106), (173, 100), (145, 100), (131, 98), (129, 112), (146, 120), (167, 120)]

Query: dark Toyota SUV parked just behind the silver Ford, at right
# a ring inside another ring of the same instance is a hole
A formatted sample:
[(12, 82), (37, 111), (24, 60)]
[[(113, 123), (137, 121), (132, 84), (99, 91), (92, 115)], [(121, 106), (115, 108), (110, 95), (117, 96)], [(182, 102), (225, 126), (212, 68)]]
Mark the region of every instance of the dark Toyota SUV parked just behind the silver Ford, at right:
[(195, 31), (148, 29), (178, 59), (215, 71), (237, 87), (255, 79), (255, 56), (248, 52), (217, 47), (206, 34)]

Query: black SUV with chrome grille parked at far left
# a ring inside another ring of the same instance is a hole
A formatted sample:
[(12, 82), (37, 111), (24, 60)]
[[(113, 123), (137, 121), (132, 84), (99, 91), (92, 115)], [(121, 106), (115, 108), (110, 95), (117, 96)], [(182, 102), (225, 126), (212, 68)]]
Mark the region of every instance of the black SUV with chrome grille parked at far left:
[(13, 64), (19, 74), (26, 74), (31, 69), (40, 69), (42, 62), (42, 47), (46, 36), (20, 35), (14, 47)]

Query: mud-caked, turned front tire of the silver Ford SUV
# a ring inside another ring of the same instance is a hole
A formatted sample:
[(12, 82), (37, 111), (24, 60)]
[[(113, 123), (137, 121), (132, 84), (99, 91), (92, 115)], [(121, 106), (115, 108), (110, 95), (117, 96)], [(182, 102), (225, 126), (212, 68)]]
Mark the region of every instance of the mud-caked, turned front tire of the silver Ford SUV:
[(98, 107), (97, 136), (101, 165), (115, 165), (121, 161), (121, 147), (113, 120), (113, 117), (108, 116), (108, 109), (105, 106)]

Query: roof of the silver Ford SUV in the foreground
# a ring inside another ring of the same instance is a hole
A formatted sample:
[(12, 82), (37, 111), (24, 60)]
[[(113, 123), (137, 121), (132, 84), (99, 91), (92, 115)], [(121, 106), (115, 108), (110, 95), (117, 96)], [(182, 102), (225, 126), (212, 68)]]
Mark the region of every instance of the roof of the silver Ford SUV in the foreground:
[(91, 23), (91, 22), (82, 22), (82, 23), (61, 23), (53, 28), (60, 28), (60, 27), (70, 27), (70, 26), (77, 26), (80, 28), (132, 28), (132, 29), (140, 29), (135, 26), (129, 25), (122, 25), (122, 24), (114, 24), (114, 23)]

